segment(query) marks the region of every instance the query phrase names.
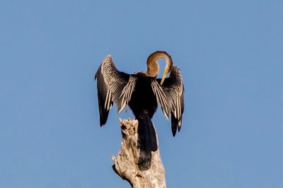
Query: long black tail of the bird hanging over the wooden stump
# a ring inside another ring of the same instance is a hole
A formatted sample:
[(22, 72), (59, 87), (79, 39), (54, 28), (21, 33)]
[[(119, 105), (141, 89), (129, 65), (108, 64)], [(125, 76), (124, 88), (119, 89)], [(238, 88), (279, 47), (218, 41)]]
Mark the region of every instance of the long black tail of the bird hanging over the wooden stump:
[(143, 114), (137, 120), (139, 121), (138, 134), (141, 149), (144, 149), (145, 151), (156, 151), (156, 131), (149, 114)]

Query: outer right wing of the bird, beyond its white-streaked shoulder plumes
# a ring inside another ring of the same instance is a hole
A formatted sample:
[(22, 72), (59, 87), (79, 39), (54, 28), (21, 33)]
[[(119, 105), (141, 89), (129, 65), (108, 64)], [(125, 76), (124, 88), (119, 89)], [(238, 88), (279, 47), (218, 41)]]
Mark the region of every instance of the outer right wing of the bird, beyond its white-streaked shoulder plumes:
[[(156, 79), (158, 83), (161, 79)], [(180, 69), (173, 66), (170, 75), (161, 86), (166, 93), (168, 113), (171, 113), (171, 129), (175, 136), (176, 131), (180, 131), (182, 125), (182, 116), (184, 112), (184, 85)]]

